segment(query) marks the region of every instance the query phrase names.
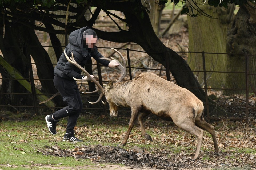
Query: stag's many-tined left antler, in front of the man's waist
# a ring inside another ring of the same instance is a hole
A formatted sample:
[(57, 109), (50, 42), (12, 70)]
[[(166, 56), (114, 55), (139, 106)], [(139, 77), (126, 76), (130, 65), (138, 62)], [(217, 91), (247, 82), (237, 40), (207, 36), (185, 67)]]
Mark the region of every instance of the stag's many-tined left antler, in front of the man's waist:
[(102, 96), (103, 96), (103, 94), (104, 94), (104, 92), (105, 92), (104, 88), (103, 88), (94, 78), (92, 78), (92, 77), (90, 76), (90, 74), (89, 74), (81, 65), (79, 65), (79, 64), (75, 61), (74, 56), (73, 56), (73, 52), (71, 52), (71, 56), (72, 56), (71, 59), (67, 56), (67, 54), (66, 54), (66, 52), (65, 52), (65, 49), (64, 49), (64, 55), (66, 56), (67, 61), (69, 61), (71, 64), (74, 64), (76, 67), (78, 67), (80, 70), (82, 70), (82, 72), (84, 72), (84, 73), (86, 74), (86, 76), (87, 76), (86, 79), (77, 79), (77, 78), (74, 78), (74, 77), (73, 77), (74, 80), (77, 80), (77, 81), (92, 81), (92, 82), (94, 82), (94, 83), (98, 86), (98, 90), (95, 90), (95, 91), (93, 91), (93, 92), (87, 92), (87, 93), (95, 93), (95, 92), (101, 91), (101, 94), (100, 94), (100, 96), (99, 96), (99, 99), (98, 99), (96, 102), (93, 102), (93, 103), (89, 102), (89, 103), (91, 103), (91, 104), (98, 103), (98, 102), (101, 100), (101, 98), (102, 98)]

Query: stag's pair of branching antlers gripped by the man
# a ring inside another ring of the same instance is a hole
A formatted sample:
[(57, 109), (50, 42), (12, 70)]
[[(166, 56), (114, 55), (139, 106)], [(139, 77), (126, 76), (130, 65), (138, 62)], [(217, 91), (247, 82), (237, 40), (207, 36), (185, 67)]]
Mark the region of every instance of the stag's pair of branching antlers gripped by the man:
[[(119, 51), (117, 51), (117, 50), (114, 49), (114, 48), (112, 48), (112, 49), (115, 50), (115, 51), (120, 55), (120, 57), (122, 58), (122, 61), (123, 61), (123, 65), (119, 63), (119, 65), (117, 66), (117, 67), (121, 70), (121, 77), (118, 79), (117, 82), (121, 82), (121, 81), (123, 80), (123, 78), (125, 77), (125, 74), (126, 74), (126, 70), (125, 70), (125, 69), (126, 69), (125, 59), (123, 58), (122, 54), (121, 54)], [(81, 65), (79, 65), (79, 64), (75, 61), (74, 56), (73, 56), (73, 52), (71, 52), (71, 56), (72, 56), (72, 58), (70, 57), (71, 59), (67, 56), (67, 54), (66, 54), (66, 52), (65, 52), (65, 49), (64, 49), (64, 55), (66, 56), (67, 61), (69, 61), (71, 64), (74, 64), (76, 67), (78, 67), (80, 70), (82, 70), (82, 72), (84, 72), (85, 75), (87, 76), (86, 79), (77, 79), (77, 78), (74, 78), (74, 77), (73, 77), (74, 80), (77, 80), (77, 81), (92, 81), (92, 82), (94, 82), (94, 83), (98, 86), (98, 89), (97, 89), (97, 90), (94, 90), (93, 92), (83, 92), (83, 93), (89, 94), (89, 93), (95, 93), (95, 92), (100, 91), (101, 94), (100, 94), (98, 100), (97, 100), (96, 102), (89, 102), (89, 103), (91, 103), (91, 104), (98, 103), (98, 102), (101, 100), (102, 96), (104, 95), (105, 89), (98, 83), (98, 81), (96, 81), (93, 77), (91, 77), (90, 74), (89, 74)], [(111, 61), (111, 59), (109, 59), (109, 58), (101, 58), (101, 59), (105, 59), (105, 60)]]

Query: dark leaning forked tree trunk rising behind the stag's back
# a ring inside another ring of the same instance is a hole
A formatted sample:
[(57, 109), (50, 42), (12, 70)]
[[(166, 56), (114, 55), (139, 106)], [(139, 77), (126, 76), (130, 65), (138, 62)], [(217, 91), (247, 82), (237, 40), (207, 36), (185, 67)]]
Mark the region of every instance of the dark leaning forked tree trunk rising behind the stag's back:
[[(127, 3), (129, 3), (129, 5)], [(125, 38), (126, 40), (132, 40), (133, 42), (139, 44), (154, 60), (158, 61), (164, 66), (166, 66), (165, 56), (167, 56), (169, 59), (170, 72), (174, 76), (177, 84), (181, 87), (189, 89), (205, 105), (205, 92), (201, 89), (201, 86), (195, 78), (189, 65), (176, 52), (165, 47), (165, 45), (157, 37), (150, 23), (149, 16), (144, 8), (141, 8), (141, 11), (131, 10), (134, 8), (134, 6), (138, 5), (138, 2), (120, 2), (118, 3), (118, 6), (115, 3), (108, 3), (108, 6), (106, 6), (107, 9), (121, 10), (124, 12), (126, 22), (129, 25), (129, 32), (121, 31), (118, 33), (103, 34), (103, 31), (98, 30), (97, 33), (103, 39), (109, 41), (120, 42), (121, 40), (123, 42)], [(143, 18), (141, 18), (141, 13), (144, 13)], [(120, 39), (121, 36), (122, 39)], [(211, 115), (215, 115), (216, 113), (219, 116), (227, 115), (222, 108), (214, 106), (214, 103), (211, 104), (212, 105), (209, 106)]]

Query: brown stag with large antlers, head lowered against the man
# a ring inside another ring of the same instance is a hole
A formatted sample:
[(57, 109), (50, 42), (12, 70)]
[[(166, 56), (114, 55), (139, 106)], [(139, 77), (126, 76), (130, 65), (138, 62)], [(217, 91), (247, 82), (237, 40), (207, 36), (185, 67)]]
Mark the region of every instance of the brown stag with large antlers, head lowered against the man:
[(66, 54), (65, 56), (70, 63), (80, 68), (87, 76), (86, 80), (74, 78), (75, 80), (93, 81), (98, 86), (98, 90), (96, 91), (101, 91), (99, 99), (96, 102), (90, 103), (94, 104), (99, 102), (102, 96), (105, 95), (110, 106), (110, 116), (112, 117), (116, 117), (118, 115), (118, 109), (120, 107), (131, 108), (131, 118), (128, 130), (123, 141), (118, 146), (125, 146), (137, 118), (141, 127), (142, 135), (146, 139), (152, 141), (151, 136), (145, 131), (143, 119), (147, 115), (153, 113), (163, 119), (172, 119), (179, 128), (197, 137), (197, 149), (194, 157), (192, 158), (193, 160), (197, 159), (199, 156), (203, 141), (203, 130), (208, 131), (212, 135), (214, 154), (219, 155), (214, 127), (207, 123), (203, 118), (203, 103), (189, 90), (167, 81), (153, 73), (142, 73), (133, 80), (121, 82), (126, 73), (125, 60), (120, 52), (116, 49), (114, 50), (123, 60), (123, 65), (119, 64), (118, 66), (121, 70), (121, 77), (116, 83), (113, 83), (110, 80), (105, 89), (94, 78), (92, 78), (84, 68), (76, 63), (73, 58), (73, 54), (71, 59)]

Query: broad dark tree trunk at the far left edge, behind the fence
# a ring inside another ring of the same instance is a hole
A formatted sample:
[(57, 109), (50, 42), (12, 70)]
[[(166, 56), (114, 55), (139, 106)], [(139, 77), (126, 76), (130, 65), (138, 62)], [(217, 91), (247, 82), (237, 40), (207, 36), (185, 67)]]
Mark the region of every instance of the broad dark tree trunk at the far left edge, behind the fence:
[[(1, 22), (2, 23), (2, 22)], [(5, 37), (0, 36), (0, 47), (4, 59), (29, 80), (29, 62), (26, 47), (22, 34), (20, 34), (20, 27), (12, 27), (12, 24), (6, 23)], [(0, 26), (0, 32), (3, 32), (3, 25)], [(30, 55), (29, 55), (30, 56)], [(11, 76), (5, 69), (1, 69), (3, 76), (1, 85), (0, 103), (10, 105), (26, 105), (31, 104), (31, 95), (20, 95), (10, 93), (27, 93), (28, 91), (17, 80), (12, 80)], [(19, 108), (21, 109), (21, 108)]]

